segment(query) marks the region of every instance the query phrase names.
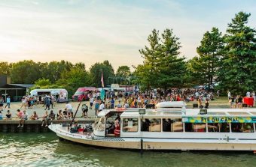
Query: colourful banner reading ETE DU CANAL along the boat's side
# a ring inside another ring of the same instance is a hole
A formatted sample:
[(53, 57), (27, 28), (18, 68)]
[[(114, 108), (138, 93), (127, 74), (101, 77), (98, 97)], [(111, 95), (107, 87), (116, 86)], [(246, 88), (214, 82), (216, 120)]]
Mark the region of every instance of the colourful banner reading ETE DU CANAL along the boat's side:
[(256, 117), (184, 117), (184, 123), (256, 123)]

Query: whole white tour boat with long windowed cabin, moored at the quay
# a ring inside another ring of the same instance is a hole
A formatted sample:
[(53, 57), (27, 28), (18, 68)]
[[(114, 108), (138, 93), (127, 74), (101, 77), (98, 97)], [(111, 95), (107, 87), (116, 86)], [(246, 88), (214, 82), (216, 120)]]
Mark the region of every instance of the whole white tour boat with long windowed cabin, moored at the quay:
[[(114, 121), (120, 115), (120, 136)], [(256, 109), (185, 109), (183, 102), (162, 102), (157, 109), (110, 109), (99, 112), (93, 132), (71, 133), (51, 124), (62, 139), (107, 148), (143, 150), (256, 151)]]

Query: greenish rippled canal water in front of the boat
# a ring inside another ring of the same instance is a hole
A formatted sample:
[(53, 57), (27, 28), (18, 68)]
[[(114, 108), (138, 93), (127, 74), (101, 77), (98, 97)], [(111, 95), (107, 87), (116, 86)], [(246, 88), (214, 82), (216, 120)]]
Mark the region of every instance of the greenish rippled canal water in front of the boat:
[(0, 133), (0, 166), (255, 167), (251, 152), (124, 151), (61, 141), (54, 133)]

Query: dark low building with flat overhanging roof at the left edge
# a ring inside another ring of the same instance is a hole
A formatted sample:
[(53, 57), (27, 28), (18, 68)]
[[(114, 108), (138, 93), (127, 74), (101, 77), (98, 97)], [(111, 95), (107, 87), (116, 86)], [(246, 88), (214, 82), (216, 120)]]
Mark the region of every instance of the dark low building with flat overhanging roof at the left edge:
[(27, 84), (11, 84), (9, 76), (0, 76), (0, 97), (4, 97), (5, 101), (8, 96), (11, 101), (20, 101), (21, 98), (29, 94), (29, 88), (34, 85)]

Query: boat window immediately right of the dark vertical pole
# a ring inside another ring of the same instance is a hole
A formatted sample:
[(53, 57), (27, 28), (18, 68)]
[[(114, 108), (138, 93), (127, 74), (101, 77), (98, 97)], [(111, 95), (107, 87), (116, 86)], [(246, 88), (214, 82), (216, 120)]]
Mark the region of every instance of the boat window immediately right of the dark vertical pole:
[(161, 119), (145, 118), (142, 120), (142, 131), (145, 132), (160, 132)]

